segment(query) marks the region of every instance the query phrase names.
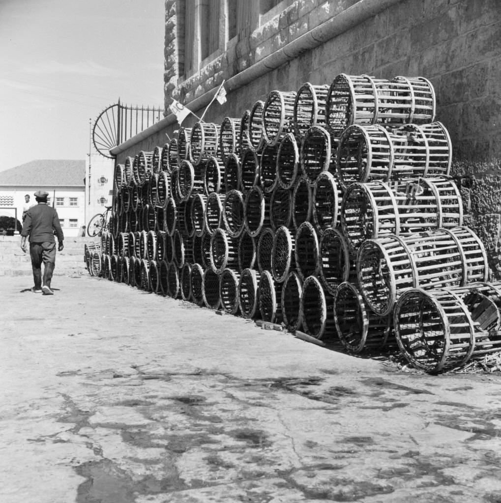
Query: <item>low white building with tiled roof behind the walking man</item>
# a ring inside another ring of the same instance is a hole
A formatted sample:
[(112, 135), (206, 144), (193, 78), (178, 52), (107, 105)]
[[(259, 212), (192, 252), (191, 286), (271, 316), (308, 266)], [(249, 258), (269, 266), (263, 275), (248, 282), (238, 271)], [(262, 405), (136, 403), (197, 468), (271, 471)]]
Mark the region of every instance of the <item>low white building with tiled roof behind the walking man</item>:
[(34, 192), (49, 193), (66, 237), (82, 235), (85, 225), (85, 160), (32, 160), (0, 172), (0, 216), (22, 220), (24, 196), (36, 204)]

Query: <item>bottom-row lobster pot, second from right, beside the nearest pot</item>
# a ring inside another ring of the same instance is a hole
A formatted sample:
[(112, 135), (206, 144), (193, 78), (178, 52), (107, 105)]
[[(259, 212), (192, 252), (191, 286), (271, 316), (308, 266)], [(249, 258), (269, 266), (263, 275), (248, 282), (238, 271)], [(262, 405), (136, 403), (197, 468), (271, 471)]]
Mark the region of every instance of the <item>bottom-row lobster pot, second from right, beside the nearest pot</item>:
[(334, 322), (348, 353), (379, 352), (396, 346), (391, 315), (376, 316), (352, 283), (341, 283), (334, 294)]

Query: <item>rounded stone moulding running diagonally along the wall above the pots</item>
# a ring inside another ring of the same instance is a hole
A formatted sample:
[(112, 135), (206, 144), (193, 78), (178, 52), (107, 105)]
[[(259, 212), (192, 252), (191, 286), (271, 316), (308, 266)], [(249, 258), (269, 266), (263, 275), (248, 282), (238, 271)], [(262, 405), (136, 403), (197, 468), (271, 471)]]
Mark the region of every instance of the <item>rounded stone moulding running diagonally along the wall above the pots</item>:
[[(241, 71), (237, 75), (229, 78), (225, 83), (227, 91), (235, 91), (252, 82), (256, 78), (278, 68), (283, 63), (296, 58), (300, 54), (310, 49), (314, 49), (328, 40), (337, 37), (341, 33), (353, 28), (392, 7), (403, 0), (359, 0), (348, 9), (340, 12), (336, 16), (324, 21), (321, 25), (311, 29), (309, 32), (301, 35), (289, 44), (276, 50), (274, 53), (257, 61), (255, 64)], [(203, 95), (195, 98), (190, 103), (185, 104), (192, 111), (200, 110), (206, 107), (217, 92), (219, 85), (207, 91)], [(127, 141), (110, 149), (112, 155), (117, 155), (127, 148), (139, 143), (139, 141), (148, 138), (152, 134), (160, 131), (176, 122), (176, 116), (169, 114), (159, 122), (149, 128), (129, 138)]]

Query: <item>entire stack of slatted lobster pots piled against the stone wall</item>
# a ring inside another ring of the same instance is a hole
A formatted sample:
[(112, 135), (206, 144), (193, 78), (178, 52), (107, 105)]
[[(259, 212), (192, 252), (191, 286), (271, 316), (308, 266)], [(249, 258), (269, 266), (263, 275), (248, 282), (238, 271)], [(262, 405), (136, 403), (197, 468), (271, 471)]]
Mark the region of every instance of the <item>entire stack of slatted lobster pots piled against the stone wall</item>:
[(425, 78), (272, 91), (116, 165), (93, 271), (350, 353), (462, 365), (498, 350), (501, 287), (451, 157)]

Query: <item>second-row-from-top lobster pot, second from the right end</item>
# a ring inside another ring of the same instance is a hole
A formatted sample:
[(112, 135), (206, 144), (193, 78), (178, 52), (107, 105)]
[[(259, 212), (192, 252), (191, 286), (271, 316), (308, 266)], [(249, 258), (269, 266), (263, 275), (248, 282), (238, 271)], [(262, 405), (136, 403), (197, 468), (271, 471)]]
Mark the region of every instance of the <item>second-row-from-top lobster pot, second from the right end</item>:
[(328, 131), (322, 126), (312, 126), (305, 133), (299, 154), (301, 171), (313, 187), (324, 171), (335, 173), (335, 149)]

